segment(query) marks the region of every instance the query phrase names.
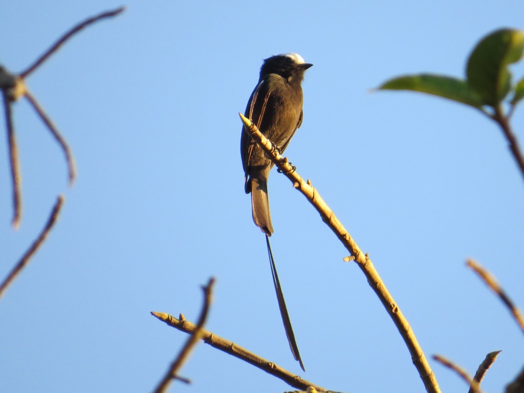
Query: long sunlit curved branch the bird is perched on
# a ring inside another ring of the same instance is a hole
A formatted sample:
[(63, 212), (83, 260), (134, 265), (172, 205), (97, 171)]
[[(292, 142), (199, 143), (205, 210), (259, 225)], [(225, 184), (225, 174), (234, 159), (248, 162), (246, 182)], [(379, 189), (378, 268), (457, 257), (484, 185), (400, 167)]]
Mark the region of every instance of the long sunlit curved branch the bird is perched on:
[(255, 140), (256, 143), (266, 152), (266, 155), (275, 163), (282, 173), (291, 180), (293, 187), (297, 188), (310, 201), (316, 211), (319, 212), (322, 221), (331, 228), (333, 233), (335, 233), (346, 249), (351, 253), (351, 256), (355, 258), (355, 262), (366, 276), (369, 286), (375, 291), (390, 318), (397, 326), (402, 339), (408, 347), (413, 364), (419, 372), (425, 389), (428, 393), (439, 393), (439, 384), (436, 381), (428, 360), (424, 356), (424, 352), (417, 341), (417, 337), (414, 335), (408, 320), (400, 311), (397, 302), (393, 299), (384, 285), (384, 282), (378, 275), (378, 272), (375, 270), (371, 259), (369, 259), (368, 255), (364, 254), (358, 247), (354, 239), (347, 232), (346, 228), (342, 225), (339, 219), (337, 219), (335, 213), (324, 202), (320, 193), (311, 186), (311, 182), (309, 180), (307, 182), (304, 181), (296, 171), (296, 168), (293, 168), (285, 158), (278, 154), (278, 149), (274, 147), (271, 141), (262, 135), (255, 125), (250, 122), (249, 119), (244, 117), (242, 113), (239, 113), (239, 115), (244, 123), (246, 132), (248, 132), (253, 140)]

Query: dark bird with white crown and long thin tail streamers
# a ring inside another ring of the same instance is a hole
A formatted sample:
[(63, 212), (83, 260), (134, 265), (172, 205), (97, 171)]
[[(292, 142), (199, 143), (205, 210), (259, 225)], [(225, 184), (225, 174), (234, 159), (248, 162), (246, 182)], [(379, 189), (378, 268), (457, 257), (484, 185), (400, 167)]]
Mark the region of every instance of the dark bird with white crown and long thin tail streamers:
[[(258, 83), (247, 102), (245, 117), (254, 123), (280, 152), (286, 149), (294, 133), (302, 125), (301, 84), (305, 70), (312, 65), (306, 63), (298, 53), (277, 54), (265, 59), (260, 67)], [(244, 189), (247, 194), (251, 193), (253, 221), (266, 235), (273, 283), (291, 353), (305, 371), (269, 244), (269, 236), (274, 233), (274, 229), (269, 212), (267, 181), (274, 163), (244, 128), (241, 136), (241, 158), (244, 167)]]

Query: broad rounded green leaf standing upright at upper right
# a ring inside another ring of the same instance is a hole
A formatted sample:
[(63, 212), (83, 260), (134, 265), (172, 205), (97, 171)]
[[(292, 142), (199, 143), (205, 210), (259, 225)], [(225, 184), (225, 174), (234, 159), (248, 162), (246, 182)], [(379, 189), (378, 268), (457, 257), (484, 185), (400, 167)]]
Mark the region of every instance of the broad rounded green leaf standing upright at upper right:
[(524, 32), (500, 29), (484, 37), (473, 49), (467, 61), (467, 82), (482, 103), (497, 106), (511, 88), (508, 64), (522, 57)]

